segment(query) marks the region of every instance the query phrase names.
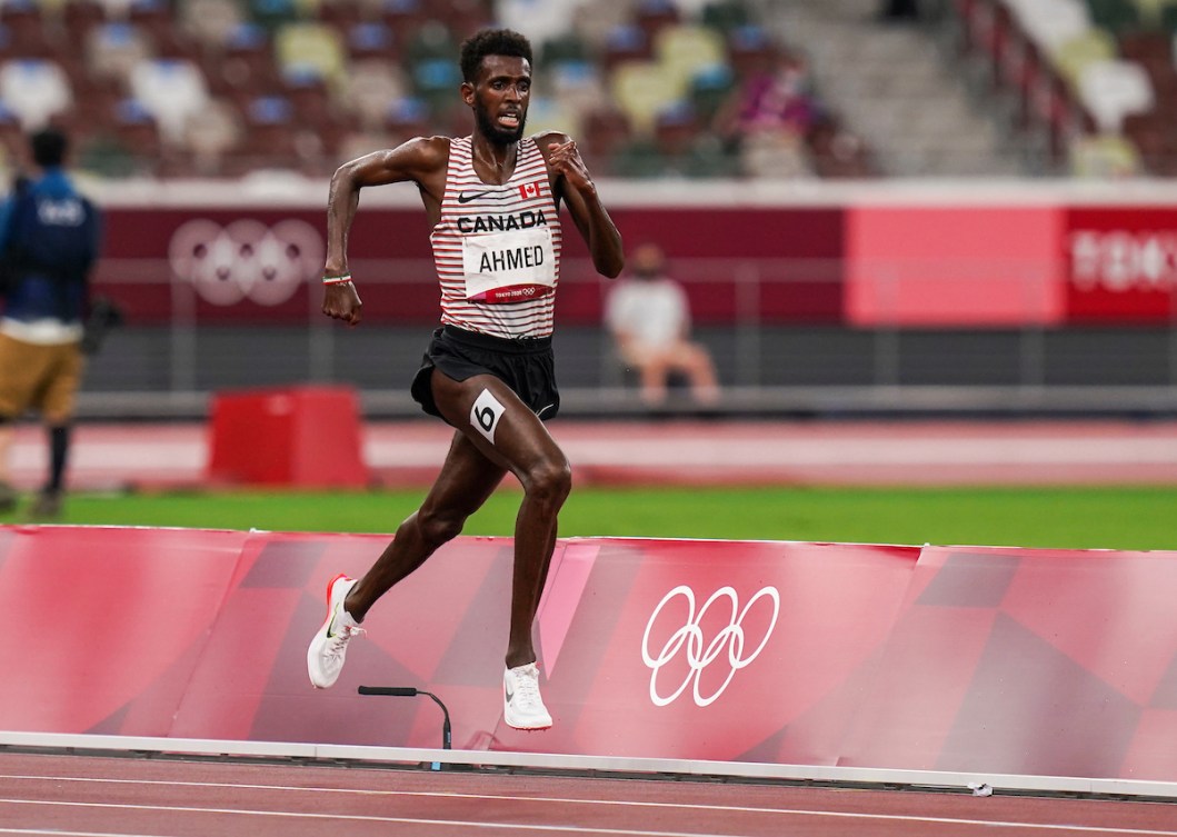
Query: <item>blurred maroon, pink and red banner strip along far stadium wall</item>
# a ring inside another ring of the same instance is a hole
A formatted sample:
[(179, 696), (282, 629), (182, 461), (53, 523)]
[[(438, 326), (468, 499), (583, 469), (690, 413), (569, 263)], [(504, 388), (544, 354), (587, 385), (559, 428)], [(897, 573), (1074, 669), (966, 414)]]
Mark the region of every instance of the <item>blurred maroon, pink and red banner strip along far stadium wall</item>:
[[(1171, 201), (973, 200), (962, 192), (739, 204), (727, 192), (697, 192), (661, 202), (630, 195), (610, 208), (629, 247), (663, 246), (701, 325), (1010, 328), (1177, 317)], [(106, 210), (106, 228), (95, 292), (115, 298), (133, 326), (319, 317), (318, 202), (119, 201)], [(428, 232), (411, 200), (357, 214), (351, 267), (367, 321), (437, 321)], [(559, 320), (599, 325), (609, 283), (579, 237), (565, 239)]]

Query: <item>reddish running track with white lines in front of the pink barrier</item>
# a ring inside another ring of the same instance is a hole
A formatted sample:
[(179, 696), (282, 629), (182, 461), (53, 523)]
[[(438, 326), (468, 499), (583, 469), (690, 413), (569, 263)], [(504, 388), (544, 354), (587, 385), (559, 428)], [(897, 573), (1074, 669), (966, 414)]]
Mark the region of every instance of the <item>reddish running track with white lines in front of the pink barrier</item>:
[(0, 753), (0, 835), (1177, 835), (1177, 804)]

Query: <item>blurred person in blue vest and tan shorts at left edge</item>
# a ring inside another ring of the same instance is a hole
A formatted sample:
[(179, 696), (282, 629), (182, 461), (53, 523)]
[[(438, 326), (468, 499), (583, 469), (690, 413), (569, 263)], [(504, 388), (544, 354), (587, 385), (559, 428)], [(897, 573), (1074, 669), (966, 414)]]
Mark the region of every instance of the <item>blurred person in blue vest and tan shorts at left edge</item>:
[(69, 427), (85, 368), (89, 272), (100, 219), (66, 174), (68, 140), (55, 128), (29, 138), (36, 173), (19, 178), (0, 205), (0, 513), (16, 506), (8, 473), (13, 424), (26, 410), (47, 429), (49, 473), (31, 510), (61, 511)]

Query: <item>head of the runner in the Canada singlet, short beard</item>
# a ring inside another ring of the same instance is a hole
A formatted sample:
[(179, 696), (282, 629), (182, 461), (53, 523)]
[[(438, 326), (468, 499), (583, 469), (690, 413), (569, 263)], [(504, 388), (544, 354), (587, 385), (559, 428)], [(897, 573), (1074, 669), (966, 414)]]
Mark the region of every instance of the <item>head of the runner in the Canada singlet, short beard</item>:
[(483, 29), (461, 45), (461, 95), (478, 131), (506, 145), (523, 137), (531, 99), (531, 42), (511, 29)]

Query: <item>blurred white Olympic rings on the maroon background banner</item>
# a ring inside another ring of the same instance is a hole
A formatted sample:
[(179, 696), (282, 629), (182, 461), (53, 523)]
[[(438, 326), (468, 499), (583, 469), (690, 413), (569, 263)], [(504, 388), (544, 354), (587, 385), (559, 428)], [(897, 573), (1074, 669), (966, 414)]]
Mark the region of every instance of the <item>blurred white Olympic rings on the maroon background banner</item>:
[(322, 271), (322, 235), (306, 221), (267, 226), (252, 219), (227, 226), (198, 218), (181, 225), (167, 246), (172, 272), (213, 305), (250, 299), (281, 305)]

